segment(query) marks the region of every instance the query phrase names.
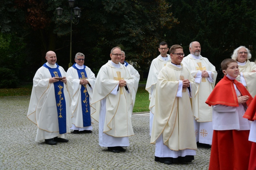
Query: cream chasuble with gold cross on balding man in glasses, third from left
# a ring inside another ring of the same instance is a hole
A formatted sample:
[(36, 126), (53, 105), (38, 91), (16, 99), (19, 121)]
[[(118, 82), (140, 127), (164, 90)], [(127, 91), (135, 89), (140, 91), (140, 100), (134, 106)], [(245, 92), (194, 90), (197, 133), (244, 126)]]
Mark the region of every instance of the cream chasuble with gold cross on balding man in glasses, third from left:
[(131, 92), (128, 93), (125, 87), (118, 87), (116, 95), (111, 92), (118, 86), (121, 79), (126, 81), (126, 85), (131, 91), (134, 78), (125, 66), (120, 63), (119, 66), (120, 68), (115, 68), (109, 61), (100, 68), (91, 101), (91, 117), (99, 122), (100, 101), (105, 99), (106, 112), (103, 132), (114, 137), (126, 137), (134, 135), (130, 114)]

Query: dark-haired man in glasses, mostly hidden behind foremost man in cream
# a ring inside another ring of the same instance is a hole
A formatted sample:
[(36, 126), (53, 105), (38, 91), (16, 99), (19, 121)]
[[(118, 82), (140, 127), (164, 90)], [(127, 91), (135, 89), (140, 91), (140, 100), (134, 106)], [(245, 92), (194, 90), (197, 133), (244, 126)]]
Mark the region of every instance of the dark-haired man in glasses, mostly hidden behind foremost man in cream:
[(168, 44), (165, 41), (162, 41), (159, 44), (158, 51), (160, 55), (158, 55), (154, 60), (152, 60), (150, 65), (150, 70), (148, 72), (147, 83), (146, 83), (146, 90), (149, 93), (149, 110), (150, 110), (150, 135), (152, 130), (152, 123), (155, 113), (155, 91), (156, 91), (156, 81), (157, 76), (160, 70), (165, 67), (168, 62), (171, 62), (171, 57), (167, 54), (169, 48)]

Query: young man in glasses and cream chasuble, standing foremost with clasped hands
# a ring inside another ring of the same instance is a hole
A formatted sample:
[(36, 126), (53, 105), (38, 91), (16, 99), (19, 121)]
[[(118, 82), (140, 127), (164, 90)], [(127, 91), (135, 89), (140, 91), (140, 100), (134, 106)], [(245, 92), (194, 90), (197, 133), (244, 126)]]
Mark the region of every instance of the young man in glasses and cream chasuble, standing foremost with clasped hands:
[(151, 133), (155, 161), (165, 164), (191, 162), (197, 149), (192, 107), (198, 86), (181, 64), (183, 48), (173, 45), (170, 56), (158, 74)]

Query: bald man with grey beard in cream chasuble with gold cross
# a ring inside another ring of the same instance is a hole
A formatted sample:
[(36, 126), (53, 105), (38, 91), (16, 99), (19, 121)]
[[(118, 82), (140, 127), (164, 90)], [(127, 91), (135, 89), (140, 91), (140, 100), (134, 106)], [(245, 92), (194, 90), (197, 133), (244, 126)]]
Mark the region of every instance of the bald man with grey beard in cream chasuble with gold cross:
[(198, 146), (210, 148), (212, 145), (212, 107), (205, 104), (211, 94), (216, 78), (217, 71), (215, 66), (206, 57), (202, 57), (201, 46), (197, 41), (189, 45), (190, 54), (184, 57), (182, 64), (187, 67), (191, 75), (198, 84), (198, 94), (196, 95), (194, 112), (195, 135)]

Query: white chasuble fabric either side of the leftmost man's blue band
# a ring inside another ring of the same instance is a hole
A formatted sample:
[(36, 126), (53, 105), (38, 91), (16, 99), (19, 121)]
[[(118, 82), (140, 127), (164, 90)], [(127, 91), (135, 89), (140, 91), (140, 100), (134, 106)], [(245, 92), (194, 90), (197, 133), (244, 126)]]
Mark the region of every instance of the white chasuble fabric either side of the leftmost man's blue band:
[[(65, 95), (66, 129), (67, 133), (70, 133), (70, 127), (72, 126), (70, 105), (73, 81), (61, 66), (59, 66), (59, 71), (62, 77), (67, 77), (67, 83), (64, 83), (63, 87), (64, 94), (61, 95)], [(38, 126), (36, 141), (60, 136), (54, 83), (49, 83), (49, 78), (52, 78), (51, 73), (44, 66), (37, 70), (33, 78), (27, 117)]]

